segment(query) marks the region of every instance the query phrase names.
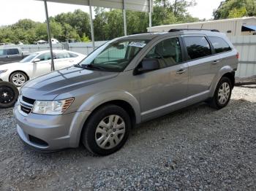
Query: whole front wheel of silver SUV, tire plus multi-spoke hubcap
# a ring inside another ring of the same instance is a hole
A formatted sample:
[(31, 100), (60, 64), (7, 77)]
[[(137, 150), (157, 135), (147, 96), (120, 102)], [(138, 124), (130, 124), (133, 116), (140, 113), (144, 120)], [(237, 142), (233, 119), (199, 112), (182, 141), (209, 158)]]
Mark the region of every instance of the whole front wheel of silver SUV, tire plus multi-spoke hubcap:
[(82, 142), (94, 155), (110, 155), (123, 147), (130, 129), (131, 120), (124, 109), (105, 105), (89, 117), (83, 128)]

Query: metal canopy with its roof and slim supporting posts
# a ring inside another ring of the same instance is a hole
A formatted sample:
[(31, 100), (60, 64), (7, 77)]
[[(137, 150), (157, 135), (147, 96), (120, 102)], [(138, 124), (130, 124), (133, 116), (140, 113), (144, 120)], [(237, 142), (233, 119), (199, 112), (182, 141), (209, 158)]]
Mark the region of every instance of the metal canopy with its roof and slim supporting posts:
[(53, 61), (53, 46), (51, 42), (50, 35), (50, 22), (48, 17), (48, 6), (47, 2), (55, 2), (62, 4), (78, 4), (89, 6), (90, 11), (90, 23), (91, 23), (91, 41), (93, 44), (93, 48), (95, 49), (94, 42), (94, 23), (92, 20), (91, 6), (93, 7), (105, 7), (105, 8), (113, 8), (113, 9), (123, 9), (124, 13), (124, 36), (127, 35), (127, 16), (126, 10), (139, 11), (139, 12), (149, 12), (149, 30), (151, 31), (151, 12), (152, 12), (152, 0), (36, 0), (36, 1), (44, 1), (45, 3), (45, 16), (46, 23), (48, 28), (48, 42), (50, 44), (50, 57), (51, 57), (51, 71), (54, 70), (54, 61)]

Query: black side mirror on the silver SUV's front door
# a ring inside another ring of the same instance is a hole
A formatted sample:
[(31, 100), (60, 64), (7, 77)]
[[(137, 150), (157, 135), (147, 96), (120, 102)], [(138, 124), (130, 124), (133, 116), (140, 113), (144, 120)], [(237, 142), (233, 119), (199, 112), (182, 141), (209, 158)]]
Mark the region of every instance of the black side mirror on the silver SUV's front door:
[(144, 58), (139, 64), (138, 68), (135, 69), (135, 75), (141, 74), (147, 71), (153, 71), (160, 69), (159, 61), (155, 58)]

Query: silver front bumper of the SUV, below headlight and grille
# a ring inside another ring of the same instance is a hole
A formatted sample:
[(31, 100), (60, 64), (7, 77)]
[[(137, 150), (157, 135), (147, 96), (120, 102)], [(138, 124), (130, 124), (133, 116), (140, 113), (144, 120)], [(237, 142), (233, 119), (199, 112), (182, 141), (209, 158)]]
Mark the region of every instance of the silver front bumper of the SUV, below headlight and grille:
[(80, 133), (91, 112), (75, 112), (62, 115), (30, 113), (23, 116), (17, 105), (13, 111), (20, 139), (30, 147), (42, 151), (54, 151), (79, 146)]

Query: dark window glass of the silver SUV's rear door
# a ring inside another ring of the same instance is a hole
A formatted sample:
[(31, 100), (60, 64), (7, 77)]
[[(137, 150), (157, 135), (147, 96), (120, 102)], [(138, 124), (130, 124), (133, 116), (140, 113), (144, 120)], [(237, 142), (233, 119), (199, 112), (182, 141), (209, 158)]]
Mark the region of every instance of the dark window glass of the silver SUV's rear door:
[(187, 36), (184, 37), (184, 41), (190, 59), (196, 59), (211, 55), (211, 47), (205, 37)]

